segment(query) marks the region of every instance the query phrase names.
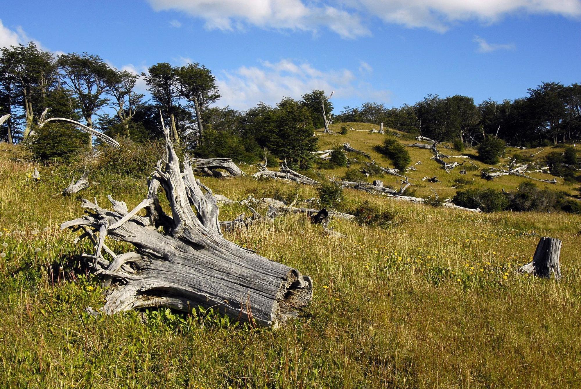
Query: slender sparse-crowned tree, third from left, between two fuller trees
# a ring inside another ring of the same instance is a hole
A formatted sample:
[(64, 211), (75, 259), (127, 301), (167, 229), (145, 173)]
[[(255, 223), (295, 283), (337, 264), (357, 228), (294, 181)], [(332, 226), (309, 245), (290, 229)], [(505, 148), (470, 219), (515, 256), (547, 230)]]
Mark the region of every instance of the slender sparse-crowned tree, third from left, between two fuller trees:
[(137, 83), (137, 74), (127, 70), (115, 71), (107, 79), (107, 89), (109, 94), (115, 99), (117, 105), (117, 116), (121, 125), (125, 129), (124, 136), (129, 136), (129, 123), (135, 116), (137, 106), (141, 104), (144, 98), (143, 94), (135, 93), (135, 84)]

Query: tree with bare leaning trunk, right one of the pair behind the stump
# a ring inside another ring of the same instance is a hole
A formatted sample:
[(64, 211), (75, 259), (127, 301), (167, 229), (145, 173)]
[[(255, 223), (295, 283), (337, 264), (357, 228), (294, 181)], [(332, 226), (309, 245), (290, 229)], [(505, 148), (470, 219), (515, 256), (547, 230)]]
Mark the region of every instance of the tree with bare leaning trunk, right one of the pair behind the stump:
[(180, 95), (193, 102), (198, 122), (198, 137), (203, 136), (202, 111), (221, 96), (216, 86), (216, 77), (210, 69), (199, 63), (189, 63), (174, 69), (175, 88)]

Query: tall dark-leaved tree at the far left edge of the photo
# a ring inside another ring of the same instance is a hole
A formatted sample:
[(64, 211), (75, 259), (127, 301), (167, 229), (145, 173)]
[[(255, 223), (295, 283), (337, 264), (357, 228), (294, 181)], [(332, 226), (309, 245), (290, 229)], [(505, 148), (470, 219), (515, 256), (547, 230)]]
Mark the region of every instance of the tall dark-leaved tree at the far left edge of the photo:
[(0, 50), (3, 91), (8, 94), (6, 97), (9, 105), (21, 106), (26, 119), (23, 137), (27, 138), (34, 123), (34, 116), (40, 115), (44, 110), (46, 94), (57, 80), (56, 64), (52, 53), (42, 51), (34, 42), (26, 46), (19, 44)]

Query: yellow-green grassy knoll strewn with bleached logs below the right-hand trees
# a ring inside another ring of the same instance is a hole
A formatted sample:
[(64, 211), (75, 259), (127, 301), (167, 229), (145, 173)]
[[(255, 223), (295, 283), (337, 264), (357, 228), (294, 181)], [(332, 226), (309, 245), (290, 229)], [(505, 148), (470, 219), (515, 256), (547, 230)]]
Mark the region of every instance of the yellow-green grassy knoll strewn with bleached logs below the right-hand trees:
[[(391, 164), (391, 162), (388, 158), (379, 154), (379, 152), (375, 150), (375, 147), (377, 145), (381, 144), (385, 135), (382, 135), (379, 133), (368, 133), (365, 131), (348, 131), (347, 134), (340, 135), (338, 133), (340, 131), (340, 127), (342, 127), (342, 126), (346, 126), (347, 129), (349, 129), (349, 127), (353, 127), (356, 130), (372, 130), (372, 129), (379, 130), (379, 126), (376, 124), (368, 124), (368, 123), (337, 123), (337, 124), (332, 124), (330, 126), (330, 129), (332, 131), (335, 131), (336, 134), (324, 134), (322, 129), (315, 131), (315, 134), (317, 134), (317, 137), (319, 139), (318, 148), (320, 150), (325, 150), (325, 149), (333, 148), (333, 147), (340, 145), (344, 142), (350, 142), (352, 147), (359, 149), (359, 150), (362, 150), (362, 151), (365, 151), (365, 152), (367, 152), (367, 154), (370, 154), (372, 156), (372, 158), (375, 159), (375, 162), (378, 163), (380, 166), (393, 167), (393, 165)], [(396, 131), (396, 130), (389, 130), (389, 131), (391, 131), (392, 133), (398, 133), (398, 131)], [(411, 137), (411, 135), (409, 135), (409, 134), (400, 133), (400, 135), (402, 136), (402, 138), (398, 138), (398, 140), (404, 145), (408, 145), (408, 144), (412, 144), (412, 143), (416, 142), (414, 140), (414, 138)], [(444, 142), (442, 145), (440, 145), (438, 147), (439, 151), (443, 152), (444, 154), (477, 156), (476, 149), (467, 149), (464, 152), (460, 153), (460, 152), (455, 151), (454, 149), (444, 148), (443, 147), (444, 145), (451, 146), (451, 144)], [(507, 157), (507, 158), (502, 158), (500, 160), (500, 163), (508, 163), (508, 158), (510, 158), (515, 153), (518, 153), (518, 154), (522, 153), (525, 155), (530, 155), (530, 154), (536, 153), (537, 151), (540, 151), (541, 149), (543, 149), (543, 148), (521, 150), (521, 149), (518, 149), (515, 147), (509, 147), (509, 148), (507, 148), (507, 151), (505, 152), (505, 157)], [(442, 197), (450, 197), (450, 196), (454, 195), (456, 190), (454, 190), (451, 187), (453, 187), (456, 184), (456, 180), (460, 179), (460, 178), (468, 179), (468, 180), (473, 179), (474, 184), (472, 184), (471, 187), (486, 187), (486, 188), (494, 188), (496, 190), (501, 190), (502, 188), (504, 188), (507, 191), (513, 190), (514, 188), (516, 188), (518, 186), (518, 184), (520, 184), (523, 181), (528, 181), (528, 179), (525, 179), (522, 177), (517, 177), (517, 176), (502, 176), (502, 177), (498, 177), (498, 178), (494, 179), (494, 181), (484, 180), (484, 179), (480, 178), (480, 170), (483, 168), (486, 168), (486, 167), (491, 167), (491, 166), (486, 165), (485, 163), (479, 162), (478, 159), (471, 159), (471, 160), (476, 165), (478, 165), (480, 169), (468, 171), (468, 174), (466, 174), (465, 176), (462, 176), (460, 174), (461, 169), (458, 169), (458, 168), (452, 170), (450, 173), (446, 173), (446, 170), (442, 169), (442, 165), (437, 163), (435, 160), (431, 159), (433, 156), (433, 153), (431, 151), (426, 150), (426, 149), (413, 148), (413, 147), (408, 147), (407, 150), (410, 153), (412, 165), (418, 161), (422, 162), (421, 165), (414, 165), (417, 168), (416, 172), (408, 172), (407, 173), (407, 176), (410, 177), (411, 183), (414, 185), (413, 188), (417, 191), (418, 195), (429, 195), (432, 193), (432, 190), (428, 187), (428, 185), (426, 185), (425, 183), (422, 183), (422, 181), (421, 181), (422, 177), (426, 177), (426, 176), (428, 176), (428, 177), (437, 176), (438, 179), (440, 181), (442, 181), (441, 183), (430, 184), (432, 186), (432, 188), (434, 188), (434, 190), (436, 190), (437, 193), (439, 195), (441, 195)], [(557, 150), (557, 148), (544, 147), (544, 151), (541, 151), (539, 154), (537, 154), (534, 157), (534, 159), (537, 161), (541, 161), (544, 159), (544, 156), (546, 156), (551, 151), (555, 151), (555, 150)], [(562, 148), (560, 148), (558, 150), (562, 151)], [(352, 157), (352, 158), (355, 157), (361, 161), (367, 160), (364, 157), (356, 156), (356, 155), (353, 155), (350, 157)], [(460, 159), (460, 158), (447, 159), (447, 161), (449, 161), (449, 162), (453, 162), (454, 160), (457, 160), (458, 162), (462, 162), (462, 159)], [(465, 163), (465, 165), (469, 165), (469, 164)], [(544, 166), (544, 164), (541, 163), (540, 166)], [(498, 167), (498, 166), (496, 166), (496, 167)], [(338, 169), (332, 169), (332, 170), (325, 170), (325, 174), (327, 174), (329, 176), (335, 175), (336, 177), (341, 177), (343, 174), (345, 174), (346, 169), (347, 168), (344, 167), (344, 168), (338, 168)], [(529, 174), (529, 173), (527, 173), (527, 174)], [(530, 173), (529, 175), (531, 177), (535, 177), (537, 179), (553, 179), (554, 178), (550, 174), (543, 174), (543, 173)], [(371, 177), (371, 180), (372, 179), (373, 179), (373, 177)], [(399, 183), (397, 183), (398, 180), (399, 179), (396, 176), (384, 176), (384, 177), (382, 177), (382, 181), (384, 184), (390, 184), (394, 188), (400, 187)], [(576, 188), (578, 187), (578, 184), (565, 183), (565, 181), (563, 179), (557, 179), (557, 181), (558, 181), (557, 185), (548, 184), (548, 183), (541, 183), (539, 181), (534, 181), (534, 182), (540, 188), (546, 187), (546, 188), (549, 188), (549, 189), (554, 190), (554, 191), (565, 191), (565, 192), (568, 192), (569, 194), (576, 194)]]

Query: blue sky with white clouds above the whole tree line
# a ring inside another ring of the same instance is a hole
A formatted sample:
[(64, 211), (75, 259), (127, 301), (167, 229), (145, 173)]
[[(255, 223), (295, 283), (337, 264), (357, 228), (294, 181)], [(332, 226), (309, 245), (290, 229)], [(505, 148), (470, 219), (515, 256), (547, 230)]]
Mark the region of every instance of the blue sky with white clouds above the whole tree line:
[[(335, 91), (335, 112), (427, 94), (514, 99), (581, 82), (581, 0), (5, 0), (0, 46), (34, 40), (119, 69), (199, 62), (219, 106)], [(144, 84), (139, 84), (144, 88)]]

